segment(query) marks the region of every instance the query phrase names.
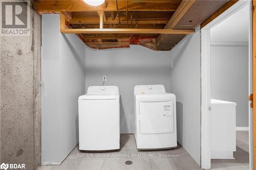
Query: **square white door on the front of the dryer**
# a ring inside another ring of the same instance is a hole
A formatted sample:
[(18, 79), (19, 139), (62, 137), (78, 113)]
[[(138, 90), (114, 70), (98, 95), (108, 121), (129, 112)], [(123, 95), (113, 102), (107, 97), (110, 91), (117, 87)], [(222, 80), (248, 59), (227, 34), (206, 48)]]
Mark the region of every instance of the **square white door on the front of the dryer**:
[(173, 101), (140, 102), (140, 133), (174, 132)]

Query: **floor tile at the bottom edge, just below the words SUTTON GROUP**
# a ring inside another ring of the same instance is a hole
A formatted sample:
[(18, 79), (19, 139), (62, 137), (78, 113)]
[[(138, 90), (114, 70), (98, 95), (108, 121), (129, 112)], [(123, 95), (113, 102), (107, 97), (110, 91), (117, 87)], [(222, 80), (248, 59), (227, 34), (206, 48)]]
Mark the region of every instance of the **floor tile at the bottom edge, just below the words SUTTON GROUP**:
[(100, 170), (103, 162), (103, 159), (82, 160), (78, 165), (77, 170)]

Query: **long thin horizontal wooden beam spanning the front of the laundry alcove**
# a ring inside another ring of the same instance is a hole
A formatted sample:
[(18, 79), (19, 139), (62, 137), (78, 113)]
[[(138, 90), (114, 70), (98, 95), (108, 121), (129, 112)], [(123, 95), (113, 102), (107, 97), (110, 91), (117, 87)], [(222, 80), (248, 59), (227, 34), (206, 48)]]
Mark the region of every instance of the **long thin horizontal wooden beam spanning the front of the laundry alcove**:
[[(63, 28), (63, 27), (60, 27)], [(171, 29), (60, 29), (65, 34), (191, 34), (195, 30)]]

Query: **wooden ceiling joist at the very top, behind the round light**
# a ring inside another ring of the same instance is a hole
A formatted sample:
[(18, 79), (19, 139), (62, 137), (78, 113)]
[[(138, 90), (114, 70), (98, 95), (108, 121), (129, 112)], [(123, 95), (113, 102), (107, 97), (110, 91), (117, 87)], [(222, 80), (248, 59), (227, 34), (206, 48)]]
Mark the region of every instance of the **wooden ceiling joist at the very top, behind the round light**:
[[(31, 1), (38, 12), (84, 12), (84, 11), (116, 11), (115, 1), (108, 1), (107, 5), (90, 6), (81, 0), (75, 1)], [(133, 2), (128, 0), (128, 11), (175, 11), (180, 2), (163, 3)], [(118, 1), (119, 11), (126, 11), (126, 1)]]

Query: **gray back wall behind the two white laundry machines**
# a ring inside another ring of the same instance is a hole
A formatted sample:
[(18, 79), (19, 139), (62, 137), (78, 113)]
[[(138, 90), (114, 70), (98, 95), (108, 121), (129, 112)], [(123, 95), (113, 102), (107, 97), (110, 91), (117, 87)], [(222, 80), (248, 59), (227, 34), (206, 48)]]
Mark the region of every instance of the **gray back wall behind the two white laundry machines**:
[[(170, 52), (156, 52), (140, 45), (130, 48), (94, 50), (86, 48), (86, 88), (119, 87), (121, 133), (134, 133), (134, 86), (163, 84), (170, 91)], [(200, 82), (200, 81), (199, 81)]]

